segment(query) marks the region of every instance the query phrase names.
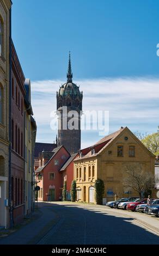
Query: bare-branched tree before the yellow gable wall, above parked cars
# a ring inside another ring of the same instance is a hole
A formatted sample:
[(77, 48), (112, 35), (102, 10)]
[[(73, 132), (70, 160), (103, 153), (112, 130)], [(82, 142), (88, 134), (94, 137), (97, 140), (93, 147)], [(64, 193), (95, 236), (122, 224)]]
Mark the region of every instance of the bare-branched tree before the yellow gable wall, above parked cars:
[(123, 185), (127, 190), (134, 190), (142, 198), (142, 194), (152, 190), (158, 180), (157, 176), (142, 169), (141, 164), (125, 166), (126, 178)]

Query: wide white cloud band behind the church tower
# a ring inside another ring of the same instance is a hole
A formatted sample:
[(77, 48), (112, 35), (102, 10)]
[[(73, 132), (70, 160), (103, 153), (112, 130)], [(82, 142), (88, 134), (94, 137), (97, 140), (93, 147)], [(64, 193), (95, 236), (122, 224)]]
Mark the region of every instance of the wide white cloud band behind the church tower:
[[(56, 92), (64, 81), (32, 82), (32, 106), (39, 126), (37, 139), (50, 141), (50, 113), (56, 111)], [(159, 120), (159, 78), (126, 77), (78, 80), (83, 90), (83, 110), (108, 110), (110, 130), (120, 126), (130, 129), (154, 132)], [(44, 137), (42, 127), (45, 125)], [(46, 129), (47, 127), (47, 129)], [(46, 133), (46, 130), (48, 131)], [(84, 146), (91, 144), (91, 138), (84, 136)], [(96, 141), (99, 139), (96, 136)]]

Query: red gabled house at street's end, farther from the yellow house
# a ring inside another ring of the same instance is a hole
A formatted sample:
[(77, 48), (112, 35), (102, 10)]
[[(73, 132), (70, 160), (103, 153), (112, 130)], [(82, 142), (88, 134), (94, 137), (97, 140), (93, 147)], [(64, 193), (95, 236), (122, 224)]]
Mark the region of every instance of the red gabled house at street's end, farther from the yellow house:
[(39, 168), (35, 170), (36, 181), (40, 181), (38, 200), (62, 200), (63, 176), (60, 169), (69, 158), (70, 154), (63, 146), (52, 152), (40, 153)]

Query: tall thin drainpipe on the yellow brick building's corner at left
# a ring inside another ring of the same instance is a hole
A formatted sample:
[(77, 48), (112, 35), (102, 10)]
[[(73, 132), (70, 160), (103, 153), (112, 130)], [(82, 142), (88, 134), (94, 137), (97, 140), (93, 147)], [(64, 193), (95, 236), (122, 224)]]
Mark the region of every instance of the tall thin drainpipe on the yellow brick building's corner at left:
[(9, 211), (10, 227), (13, 227), (13, 205), (11, 203), (11, 8), (10, 14), (10, 37), (9, 37)]

